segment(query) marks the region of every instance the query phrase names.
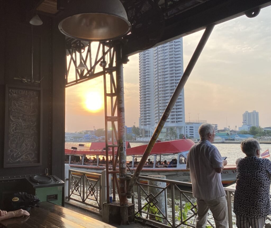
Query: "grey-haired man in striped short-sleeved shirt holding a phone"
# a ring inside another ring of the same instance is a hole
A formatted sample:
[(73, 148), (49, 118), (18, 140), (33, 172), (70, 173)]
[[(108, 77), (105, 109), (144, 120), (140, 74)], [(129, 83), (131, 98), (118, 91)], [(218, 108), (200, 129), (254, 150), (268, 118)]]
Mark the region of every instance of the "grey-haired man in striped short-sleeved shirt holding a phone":
[(186, 168), (190, 169), (193, 196), (197, 201), (196, 228), (205, 228), (210, 209), (216, 228), (228, 226), (228, 209), (225, 191), (221, 182), (221, 171), (227, 165), (221, 154), (211, 143), (215, 138), (214, 125), (199, 127), (201, 140), (189, 150)]

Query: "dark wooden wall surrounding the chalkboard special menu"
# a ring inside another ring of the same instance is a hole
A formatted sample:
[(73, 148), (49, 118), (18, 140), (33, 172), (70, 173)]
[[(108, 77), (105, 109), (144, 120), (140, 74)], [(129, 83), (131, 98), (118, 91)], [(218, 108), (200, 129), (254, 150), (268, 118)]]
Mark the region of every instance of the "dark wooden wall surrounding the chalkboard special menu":
[[(9, 3), (7, 5), (12, 9), (14, 3), (11, 0), (10, 5)], [(8, 13), (0, 17), (0, 179), (43, 174), (45, 168), (49, 168), (49, 174), (64, 179), (65, 38), (58, 31), (57, 22), (54, 22), (56, 18), (41, 15), (43, 25), (33, 26), (33, 76), (34, 80), (44, 78), (39, 84), (31, 85), (14, 80), (14, 77), (18, 76), (27, 79), (31, 77), (32, 44), (31, 25), (26, 15), (28, 8), (29, 6), (22, 10), (13, 9), (16, 14), (12, 18)], [(4, 11), (8, 12), (9, 8)], [(3, 166), (6, 84), (41, 88), (43, 154), (40, 166), (20, 168)]]

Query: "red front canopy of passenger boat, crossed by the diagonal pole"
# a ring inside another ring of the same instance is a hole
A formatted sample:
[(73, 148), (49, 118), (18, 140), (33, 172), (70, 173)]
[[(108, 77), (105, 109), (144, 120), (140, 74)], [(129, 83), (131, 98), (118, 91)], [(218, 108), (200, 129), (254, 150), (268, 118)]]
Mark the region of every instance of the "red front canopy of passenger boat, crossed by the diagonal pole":
[[(155, 143), (151, 150), (154, 154), (176, 154), (179, 152), (188, 151), (195, 143), (191, 139), (179, 139), (166, 142)], [(132, 147), (126, 150), (126, 155), (143, 155), (147, 148), (146, 145)]]

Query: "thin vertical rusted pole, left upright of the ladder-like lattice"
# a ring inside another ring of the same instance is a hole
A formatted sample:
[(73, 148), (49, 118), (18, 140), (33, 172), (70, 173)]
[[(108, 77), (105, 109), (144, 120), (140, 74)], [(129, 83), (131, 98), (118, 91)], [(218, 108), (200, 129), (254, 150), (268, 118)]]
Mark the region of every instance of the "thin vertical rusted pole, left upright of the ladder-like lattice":
[[(105, 45), (102, 44), (102, 60), (105, 62)], [(105, 116), (105, 157), (106, 157), (106, 199), (109, 203), (109, 164), (108, 164), (108, 118), (107, 118), (107, 92), (106, 92), (106, 71), (105, 65), (103, 65), (104, 71), (104, 116)], [(99, 158), (97, 159), (99, 161)]]

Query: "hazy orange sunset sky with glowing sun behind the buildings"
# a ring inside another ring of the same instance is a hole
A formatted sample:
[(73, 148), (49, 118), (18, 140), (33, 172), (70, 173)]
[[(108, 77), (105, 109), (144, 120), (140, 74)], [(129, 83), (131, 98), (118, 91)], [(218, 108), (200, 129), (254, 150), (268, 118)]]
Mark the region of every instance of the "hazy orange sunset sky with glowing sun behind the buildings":
[[(202, 33), (183, 37), (184, 69)], [(138, 54), (129, 59), (124, 97), (125, 123), (131, 127), (139, 125)], [(271, 126), (270, 77), (271, 7), (255, 18), (241, 16), (216, 25), (185, 85), (185, 120), (190, 113), (190, 120), (207, 120), (218, 129), (236, 125), (238, 130), (242, 114), (256, 110), (260, 126)], [(105, 128), (103, 100), (102, 77), (67, 88), (66, 132)], [(100, 110), (87, 108), (101, 103)]]

